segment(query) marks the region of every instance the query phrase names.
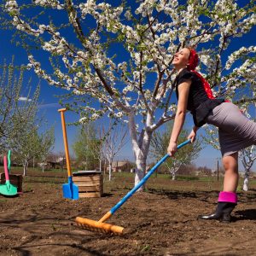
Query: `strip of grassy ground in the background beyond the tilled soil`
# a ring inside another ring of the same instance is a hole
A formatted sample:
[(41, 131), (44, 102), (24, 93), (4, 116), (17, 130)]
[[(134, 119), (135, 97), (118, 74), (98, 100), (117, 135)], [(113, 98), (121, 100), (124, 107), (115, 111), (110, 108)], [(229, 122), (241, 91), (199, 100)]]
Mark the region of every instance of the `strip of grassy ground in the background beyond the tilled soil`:
[[(22, 174), (22, 167), (13, 167), (12, 173)], [(108, 181), (108, 173), (105, 173), (103, 177), (104, 192), (122, 190), (128, 191), (134, 186), (135, 173), (131, 172), (113, 172), (112, 180)], [(158, 189), (158, 190), (221, 190), (223, 188), (223, 176), (192, 176), (192, 175), (177, 175), (176, 180), (172, 180), (172, 175), (153, 173), (148, 178), (145, 184), (146, 189)], [(61, 171), (60, 169), (46, 170), (42, 172), (40, 168), (29, 168), (27, 176), (23, 178), (23, 185), (26, 190), (31, 190), (38, 183), (45, 183), (52, 186), (61, 186), (62, 183), (67, 183), (67, 170)], [(238, 191), (242, 190), (243, 178), (239, 180)], [(256, 178), (250, 178), (249, 188), (256, 188)]]

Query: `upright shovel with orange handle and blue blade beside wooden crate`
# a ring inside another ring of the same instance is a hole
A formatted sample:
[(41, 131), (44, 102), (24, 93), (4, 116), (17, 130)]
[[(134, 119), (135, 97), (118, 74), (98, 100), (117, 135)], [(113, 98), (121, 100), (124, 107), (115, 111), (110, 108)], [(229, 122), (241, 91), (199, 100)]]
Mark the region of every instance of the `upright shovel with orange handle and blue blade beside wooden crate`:
[(63, 140), (64, 140), (64, 147), (65, 147), (65, 154), (66, 154), (66, 161), (67, 161), (67, 176), (68, 176), (68, 183), (62, 184), (62, 191), (63, 197), (68, 199), (79, 199), (79, 187), (73, 183), (72, 173), (70, 168), (70, 160), (69, 160), (69, 152), (68, 152), (68, 145), (67, 145), (67, 131), (66, 131), (66, 123), (64, 112), (66, 108), (61, 108), (58, 111), (61, 113), (61, 125), (63, 131)]

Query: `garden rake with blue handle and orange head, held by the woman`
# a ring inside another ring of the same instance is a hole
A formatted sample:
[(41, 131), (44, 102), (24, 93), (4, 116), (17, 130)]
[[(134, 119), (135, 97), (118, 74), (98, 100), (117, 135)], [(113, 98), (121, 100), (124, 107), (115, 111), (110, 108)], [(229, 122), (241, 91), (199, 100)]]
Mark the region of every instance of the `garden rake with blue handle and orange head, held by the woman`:
[[(177, 146), (178, 148), (182, 148), (183, 146), (187, 145), (188, 143), (191, 143), (191, 140), (185, 141), (184, 143), (181, 143)], [(133, 195), (137, 189), (139, 189), (141, 186), (143, 186), (144, 183), (148, 180), (148, 177), (152, 175), (152, 173), (169, 157), (169, 154), (166, 154), (158, 163), (155, 164), (155, 166), (143, 177), (143, 179), (140, 181), (140, 183), (137, 183), (137, 185), (131, 189), (109, 212), (107, 212), (100, 220), (92, 220), (89, 218), (81, 218), (77, 217), (75, 219), (76, 223), (84, 228), (85, 230), (93, 230), (93, 231), (99, 231), (102, 233), (113, 233), (115, 235), (121, 235), (123, 234), (124, 228), (113, 225), (113, 224), (107, 224), (104, 223), (108, 218), (110, 218), (114, 212), (116, 212), (119, 207), (121, 207), (125, 201), (127, 201), (131, 195)]]

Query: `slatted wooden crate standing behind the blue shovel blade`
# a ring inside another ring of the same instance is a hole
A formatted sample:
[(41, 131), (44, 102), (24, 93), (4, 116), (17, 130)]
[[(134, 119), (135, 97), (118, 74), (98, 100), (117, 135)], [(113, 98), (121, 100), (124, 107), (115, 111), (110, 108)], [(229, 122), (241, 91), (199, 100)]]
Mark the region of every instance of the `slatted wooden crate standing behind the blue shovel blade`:
[(103, 195), (102, 172), (73, 172), (73, 183), (79, 186), (79, 198), (101, 197)]

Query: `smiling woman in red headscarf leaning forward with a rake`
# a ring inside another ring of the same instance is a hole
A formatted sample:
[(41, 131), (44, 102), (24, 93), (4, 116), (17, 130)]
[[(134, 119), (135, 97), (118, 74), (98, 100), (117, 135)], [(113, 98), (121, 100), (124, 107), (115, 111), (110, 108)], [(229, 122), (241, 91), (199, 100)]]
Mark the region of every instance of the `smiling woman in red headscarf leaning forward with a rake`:
[(198, 55), (195, 49), (183, 48), (174, 55), (172, 61), (177, 70), (176, 93), (177, 113), (167, 152), (170, 155), (177, 151), (179, 136), (186, 110), (189, 110), (195, 126), (189, 134), (192, 143), (196, 131), (204, 124), (218, 127), (218, 138), (225, 170), (224, 189), (218, 195), (218, 206), (210, 215), (200, 215), (200, 219), (219, 219), (230, 222), (230, 213), (236, 207), (238, 185), (238, 151), (256, 144), (256, 123), (247, 119), (239, 108), (223, 99), (215, 99), (209, 84), (195, 72)]

